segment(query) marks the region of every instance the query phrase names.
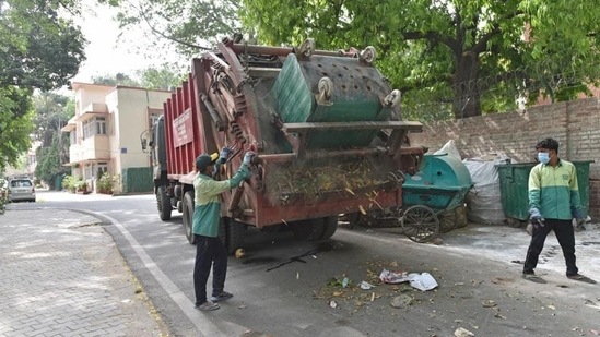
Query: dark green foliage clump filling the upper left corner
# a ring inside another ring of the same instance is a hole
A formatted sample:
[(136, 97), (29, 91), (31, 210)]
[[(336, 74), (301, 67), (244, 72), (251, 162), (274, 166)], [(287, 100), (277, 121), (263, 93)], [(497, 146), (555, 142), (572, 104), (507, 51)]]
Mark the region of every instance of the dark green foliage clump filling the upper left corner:
[(50, 91), (68, 84), (85, 59), (79, 27), (60, 17), (71, 1), (0, 0), (0, 86)]

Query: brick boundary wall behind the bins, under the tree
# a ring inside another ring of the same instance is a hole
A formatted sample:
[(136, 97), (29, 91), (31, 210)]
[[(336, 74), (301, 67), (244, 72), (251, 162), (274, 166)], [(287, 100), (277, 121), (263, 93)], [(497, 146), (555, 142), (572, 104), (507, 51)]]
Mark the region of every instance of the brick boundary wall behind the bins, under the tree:
[(566, 160), (593, 160), (590, 165), (590, 215), (600, 218), (600, 99), (586, 98), (537, 106), (525, 111), (493, 113), (426, 123), (411, 133), (412, 146), (430, 153), (455, 140), (462, 158), (497, 154), (513, 163), (532, 163), (536, 143), (556, 139), (558, 156)]

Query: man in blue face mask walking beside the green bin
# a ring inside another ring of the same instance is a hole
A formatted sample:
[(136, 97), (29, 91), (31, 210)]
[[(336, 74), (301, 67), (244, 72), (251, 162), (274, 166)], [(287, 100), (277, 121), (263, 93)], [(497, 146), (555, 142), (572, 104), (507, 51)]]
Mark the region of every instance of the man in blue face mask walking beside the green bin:
[(533, 272), (551, 230), (563, 250), (566, 276), (569, 279), (595, 282), (579, 274), (575, 262), (575, 233), (573, 218), (577, 225), (584, 222), (584, 214), (577, 186), (575, 166), (558, 158), (558, 142), (545, 139), (536, 145), (538, 160), (529, 173), (529, 214), (533, 225), (531, 242), (523, 265), (523, 278), (545, 282)]

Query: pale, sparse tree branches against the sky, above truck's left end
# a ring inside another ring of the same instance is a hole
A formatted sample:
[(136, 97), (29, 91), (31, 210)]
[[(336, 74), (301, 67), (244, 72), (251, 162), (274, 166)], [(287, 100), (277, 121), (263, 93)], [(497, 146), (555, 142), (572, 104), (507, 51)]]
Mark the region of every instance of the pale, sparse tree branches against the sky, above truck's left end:
[(113, 4), (119, 8), (117, 19), (123, 32), (131, 25), (142, 26), (174, 44), (187, 57), (211, 49), (221, 37), (233, 35), (240, 26), (236, 14), (239, 4), (235, 0), (116, 0)]

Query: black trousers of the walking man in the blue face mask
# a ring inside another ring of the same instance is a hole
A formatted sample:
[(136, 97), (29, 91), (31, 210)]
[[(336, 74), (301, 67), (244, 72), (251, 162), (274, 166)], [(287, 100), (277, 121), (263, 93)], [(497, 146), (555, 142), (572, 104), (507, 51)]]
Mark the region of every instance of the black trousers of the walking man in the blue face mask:
[(567, 267), (566, 275), (577, 274), (577, 265), (575, 264), (575, 233), (570, 220), (557, 220), (545, 219), (544, 226), (534, 226), (531, 234), (531, 242), (527, 250), (527, 257), (525, 260), (523, 273), (533, 273), (533, 269), (538, 265), (538, 258), (544, 248), (544, 241), (548, 233), (554, 230), (556, 239), (563, 250), (565, 256), (565, 263)]

